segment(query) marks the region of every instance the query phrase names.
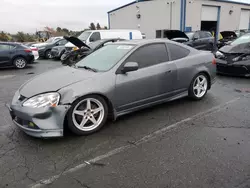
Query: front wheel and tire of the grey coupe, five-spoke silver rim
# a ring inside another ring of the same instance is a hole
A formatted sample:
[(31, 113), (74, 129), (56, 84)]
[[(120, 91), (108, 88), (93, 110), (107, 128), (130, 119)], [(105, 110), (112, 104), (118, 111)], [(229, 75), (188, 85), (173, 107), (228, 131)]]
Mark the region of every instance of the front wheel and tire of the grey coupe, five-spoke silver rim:
[(76, 135), (90, 135), (104, 126), (107, 117), (106, 101), (98, 95), (88, 95), (72, 104), (67, 114), (68, 127)]

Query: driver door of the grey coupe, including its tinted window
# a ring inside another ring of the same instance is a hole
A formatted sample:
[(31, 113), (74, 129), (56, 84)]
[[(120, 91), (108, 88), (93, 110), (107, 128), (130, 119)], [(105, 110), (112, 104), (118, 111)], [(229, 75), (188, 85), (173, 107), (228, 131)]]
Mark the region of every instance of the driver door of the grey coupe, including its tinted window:
[(118, 112), (160, 99), (160, 75), (167, 71), (162, 69), (160, 64), (168, 60), (164, 43), (140, 47), (125, 60), (123, 65), (126, 62), (137, 62), (139, 69), (125, 74), (119, 73), (116, 76), (115, 107)]

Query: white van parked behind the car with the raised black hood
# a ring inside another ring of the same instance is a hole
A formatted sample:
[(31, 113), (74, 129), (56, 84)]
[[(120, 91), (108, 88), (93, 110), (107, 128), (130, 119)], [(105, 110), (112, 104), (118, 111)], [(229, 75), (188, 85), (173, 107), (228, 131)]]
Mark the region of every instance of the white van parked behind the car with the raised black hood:
[[(126, 39), (126, 40), (132, 40), (132, 39), (142, 39), (142, 33), (138, 30), (129, 30), (129, 29), (111, 29), (111, 30), (88, 30), (84, 31), (79, 37), (81, 41), (85, 42), (86, 44), (89, 44), (91, 42), (95, 42), (97, 40), (101, 39), (110, 39), (110, 38), (120, 38), (120, 39)], [(66, 48), (68, 47), (74, 47), (74, 45), (70, 42), (68, 42), (65, 45)]]

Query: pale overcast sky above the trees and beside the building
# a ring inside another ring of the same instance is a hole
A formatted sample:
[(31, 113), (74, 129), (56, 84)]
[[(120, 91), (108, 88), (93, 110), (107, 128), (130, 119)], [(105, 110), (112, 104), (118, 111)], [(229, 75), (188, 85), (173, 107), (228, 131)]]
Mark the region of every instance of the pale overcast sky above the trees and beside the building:
[(45, 26), (82, 30), (108, 25), (107, 12), (133, 0), (0, 0), (0, 30), (33, 33)]

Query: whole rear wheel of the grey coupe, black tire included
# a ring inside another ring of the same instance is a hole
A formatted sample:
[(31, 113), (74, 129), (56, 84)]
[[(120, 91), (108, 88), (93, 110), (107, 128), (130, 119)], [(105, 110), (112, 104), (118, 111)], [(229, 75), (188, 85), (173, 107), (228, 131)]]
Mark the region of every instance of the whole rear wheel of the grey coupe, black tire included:
[(208, 88), (209, 79), (207, 75), (204, 73), (199, 73), (193, 78), (189, 86), (188, 96), (193, 100), (201, 100), (207, 94)]

